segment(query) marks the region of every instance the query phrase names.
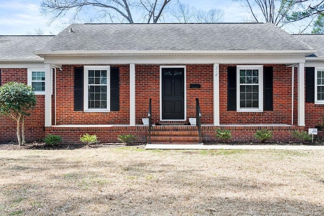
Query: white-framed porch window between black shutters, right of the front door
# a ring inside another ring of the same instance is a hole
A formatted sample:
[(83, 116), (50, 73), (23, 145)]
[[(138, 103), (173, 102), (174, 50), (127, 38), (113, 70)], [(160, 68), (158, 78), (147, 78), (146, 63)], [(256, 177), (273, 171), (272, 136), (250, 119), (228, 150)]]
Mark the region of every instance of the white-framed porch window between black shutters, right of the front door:
[(263, 111), (263, 66), (238, 65), (236, 67), (236, 104), (238, 112)]

